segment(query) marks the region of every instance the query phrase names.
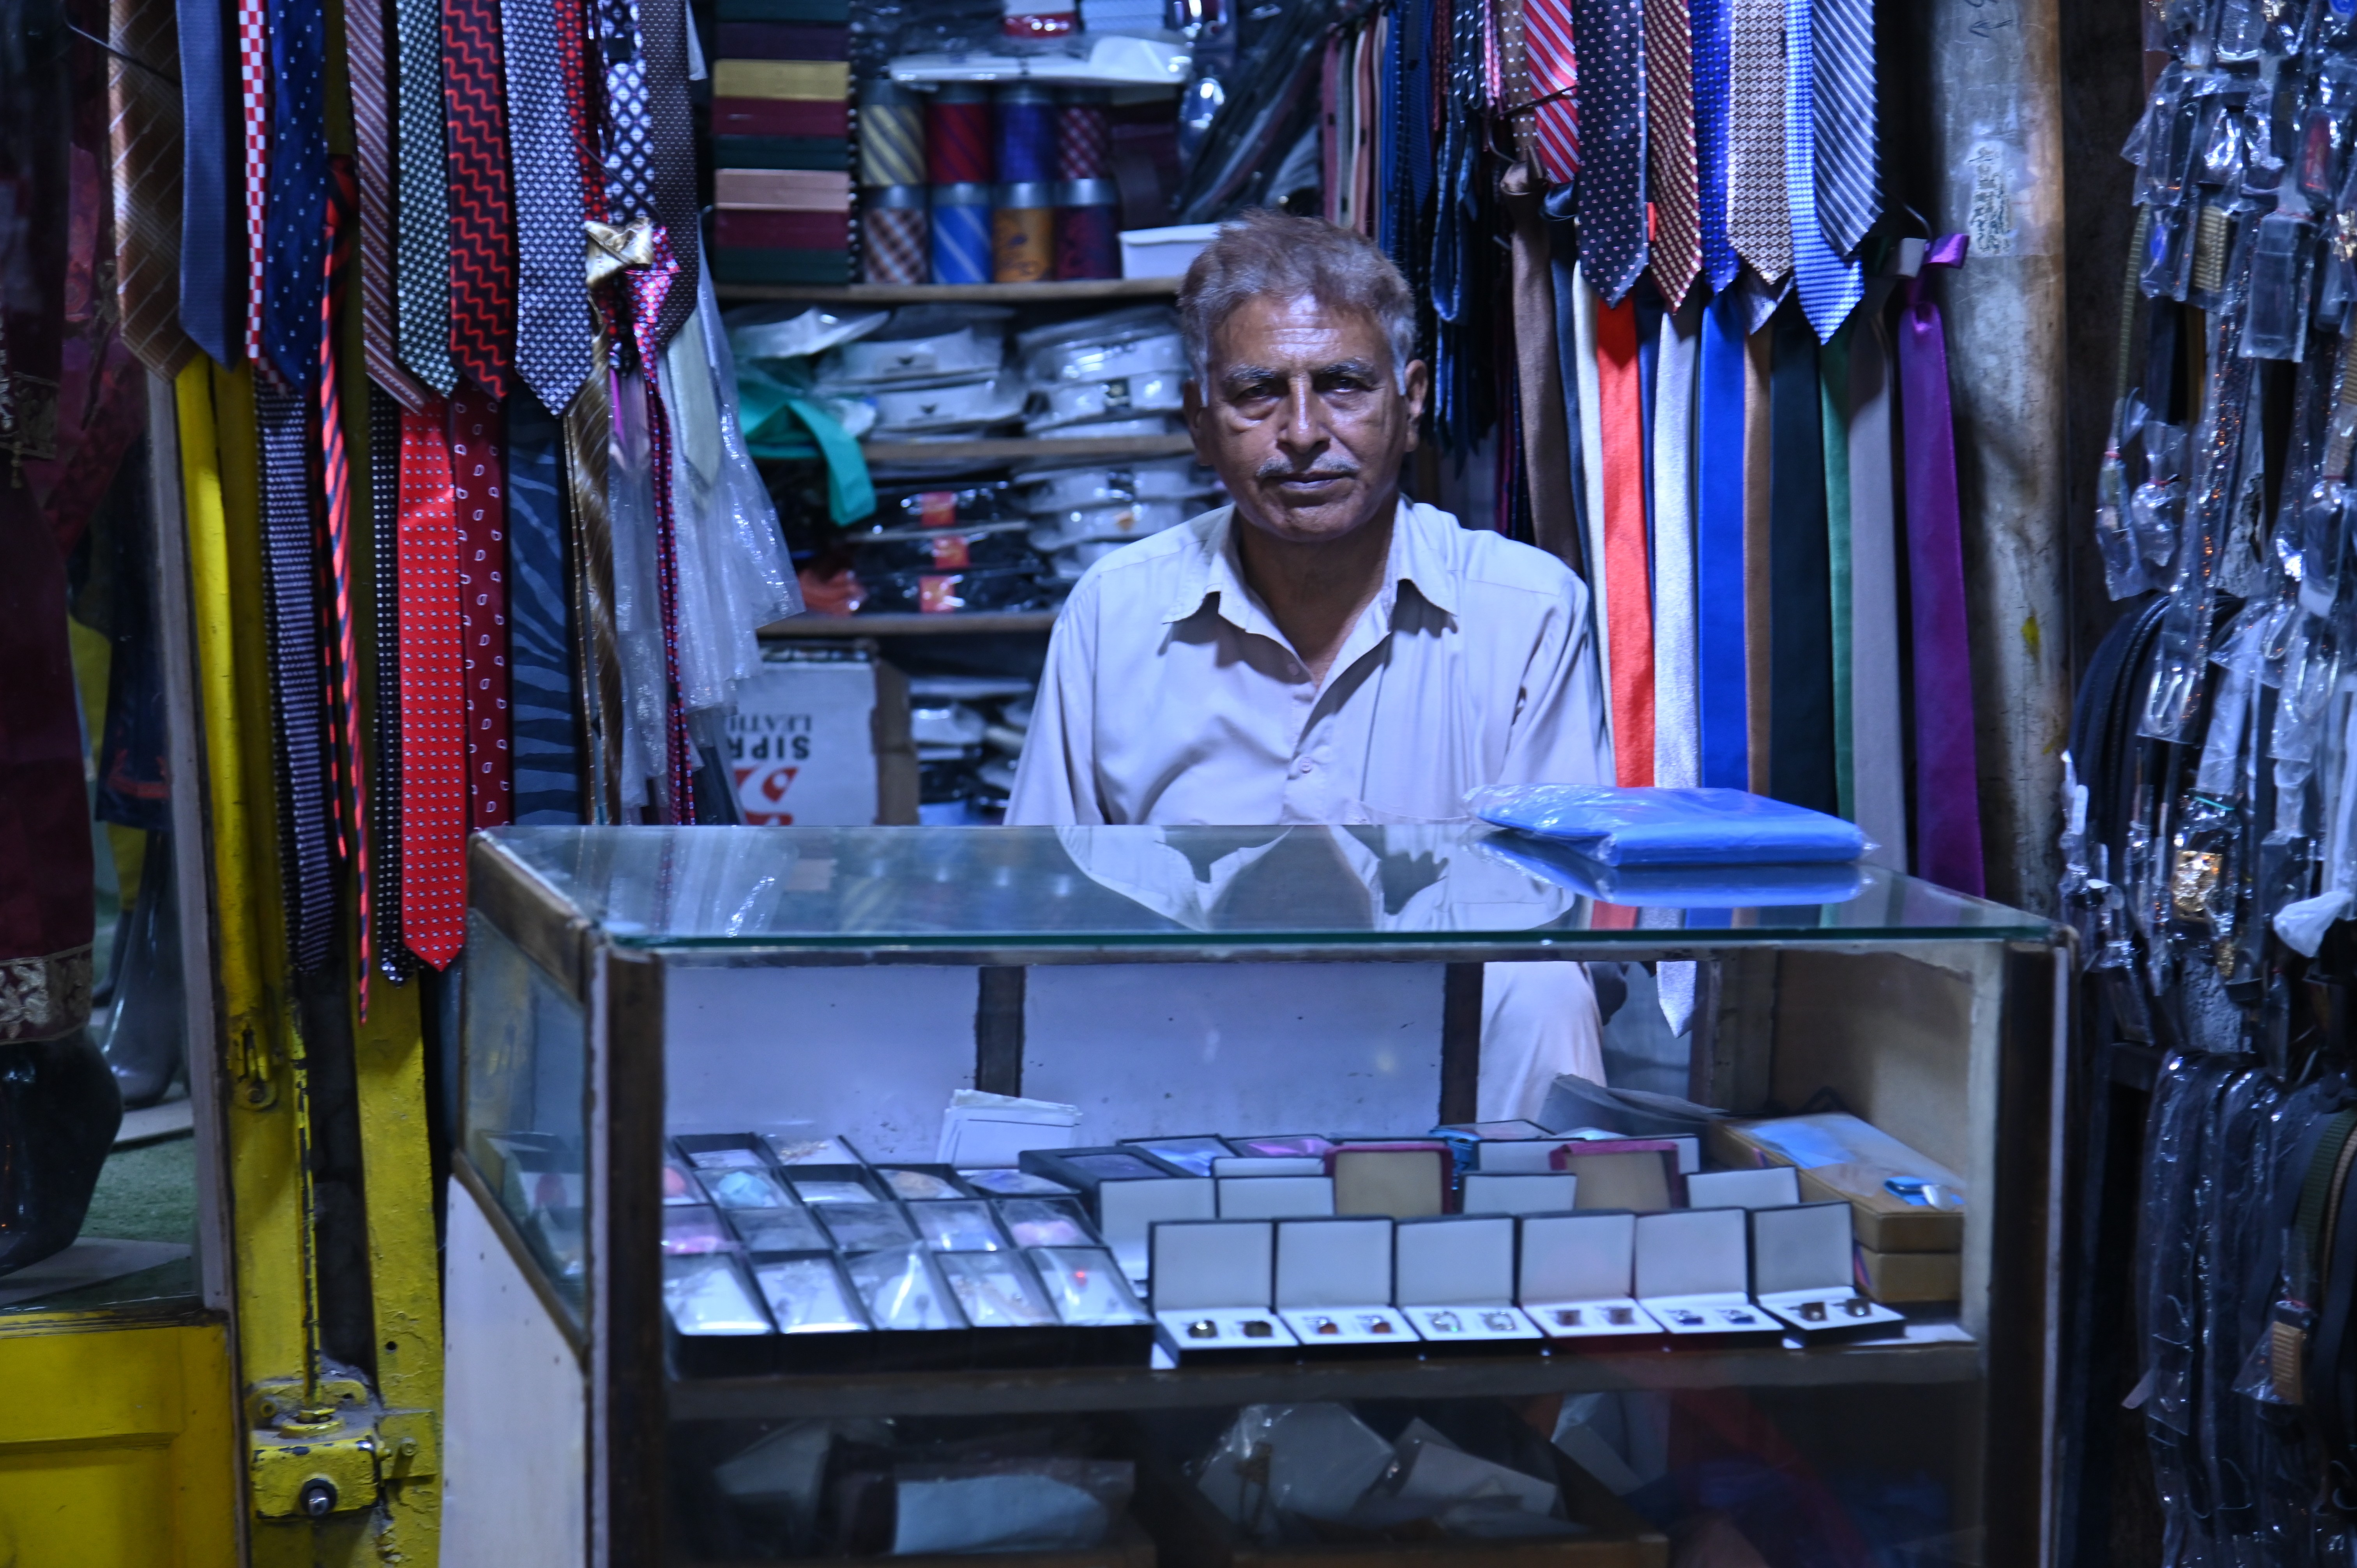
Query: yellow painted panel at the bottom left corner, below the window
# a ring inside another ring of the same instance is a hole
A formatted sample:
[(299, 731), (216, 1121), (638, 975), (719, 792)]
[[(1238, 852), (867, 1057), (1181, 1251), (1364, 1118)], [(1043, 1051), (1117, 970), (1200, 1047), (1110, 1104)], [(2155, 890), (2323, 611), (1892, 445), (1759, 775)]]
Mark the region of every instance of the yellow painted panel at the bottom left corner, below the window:
[(236, 1568), (229, 1330), (0, 1335), (0, 1568)]

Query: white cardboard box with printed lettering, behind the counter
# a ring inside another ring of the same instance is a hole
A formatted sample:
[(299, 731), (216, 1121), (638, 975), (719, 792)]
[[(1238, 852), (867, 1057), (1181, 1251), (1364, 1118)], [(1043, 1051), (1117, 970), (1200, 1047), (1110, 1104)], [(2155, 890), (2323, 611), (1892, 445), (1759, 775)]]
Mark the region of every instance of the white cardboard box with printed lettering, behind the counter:
[(907, 679), (867, 648), (766, 646), (728, 717), (728, 776), (754, 828), (915, 823)]

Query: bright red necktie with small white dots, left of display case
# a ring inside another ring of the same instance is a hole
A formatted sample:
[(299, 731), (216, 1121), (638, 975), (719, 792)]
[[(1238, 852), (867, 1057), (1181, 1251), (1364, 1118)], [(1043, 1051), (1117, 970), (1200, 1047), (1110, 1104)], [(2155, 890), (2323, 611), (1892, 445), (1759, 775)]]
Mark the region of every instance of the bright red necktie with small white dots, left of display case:
[(401, 941), (445, 969), (467, 941), (457, 516), (441, 406), (401, 410)]

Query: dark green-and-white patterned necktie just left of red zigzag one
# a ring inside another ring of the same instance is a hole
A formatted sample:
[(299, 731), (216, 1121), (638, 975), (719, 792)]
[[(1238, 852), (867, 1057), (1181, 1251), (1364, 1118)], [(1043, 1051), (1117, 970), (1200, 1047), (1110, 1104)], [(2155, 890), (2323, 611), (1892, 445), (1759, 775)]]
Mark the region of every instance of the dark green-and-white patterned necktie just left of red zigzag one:
[[(448, 394), (457, 387), (457, 368), (450, 363), (450, 165), (441, 33), (441, 0), (394, 0), (394, 80), (401, 87), (394, 309), (401, 363), (427, 389)], [(424, 413), (415, 403), (405, 408)]]

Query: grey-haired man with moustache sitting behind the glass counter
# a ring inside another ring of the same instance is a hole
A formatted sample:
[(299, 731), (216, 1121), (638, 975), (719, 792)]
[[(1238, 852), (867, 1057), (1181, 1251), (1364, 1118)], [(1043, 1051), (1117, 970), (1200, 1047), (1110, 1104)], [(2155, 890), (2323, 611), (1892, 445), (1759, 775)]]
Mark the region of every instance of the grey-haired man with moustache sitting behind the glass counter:
[[(1195, 455), (1233, 505), (1098, 561), (1049, 641), (1009, 823), (1431, 823), (1596, 783), (1586, 587), (1400, 495), (1428, 373), (1362, 236), (1247, 212), (1188, 269)], [(1480, 1115), (1603, 1078), (1579, 964), (1492, 964)]]

